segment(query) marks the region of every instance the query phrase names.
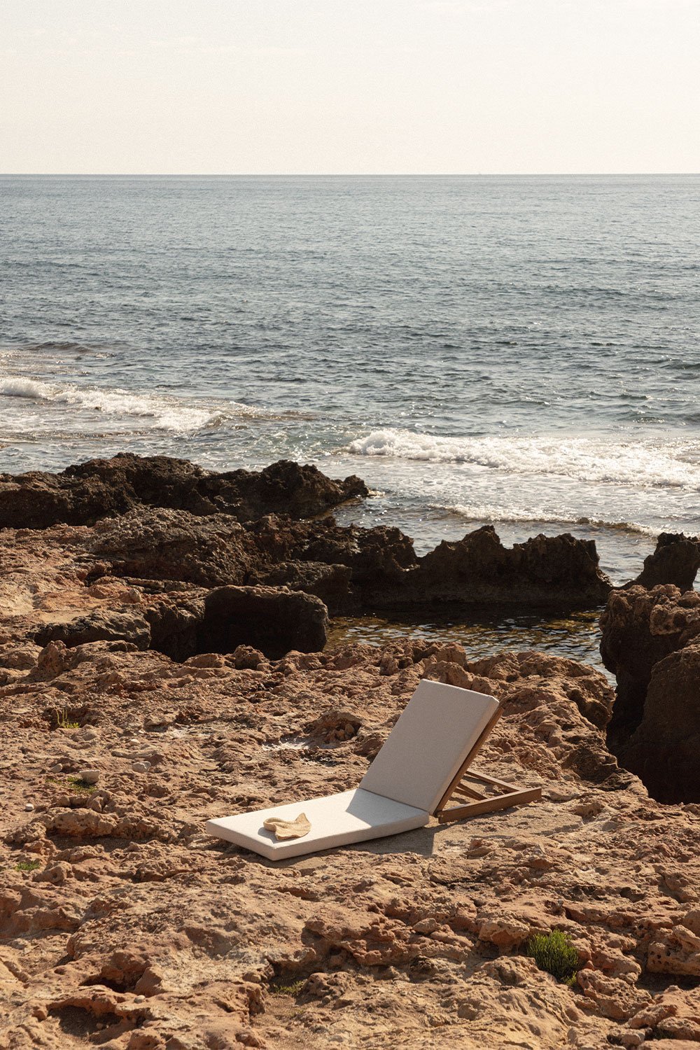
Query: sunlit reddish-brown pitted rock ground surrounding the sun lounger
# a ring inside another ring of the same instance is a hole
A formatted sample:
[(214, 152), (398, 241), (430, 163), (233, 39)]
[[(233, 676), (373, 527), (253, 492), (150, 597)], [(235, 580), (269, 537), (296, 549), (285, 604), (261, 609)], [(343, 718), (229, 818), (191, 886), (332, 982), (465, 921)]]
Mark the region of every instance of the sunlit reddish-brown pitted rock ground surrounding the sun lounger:
[[(123, 583), (84, 600), (108, 593)], [(51, 642), (7, 663), (1, 1046), (700, 1040), (700, 820), (609, 754), (613, 693), (592, 668), (424, 639), (184, 663)], [(205, 834), (212, 816), (357, 784), (424, 676), (500, 698), (479, 764), (542, 784), (542, 803), (281, 865)], [(527, 958), (551, 929), (574, 945), (573, 987)]]

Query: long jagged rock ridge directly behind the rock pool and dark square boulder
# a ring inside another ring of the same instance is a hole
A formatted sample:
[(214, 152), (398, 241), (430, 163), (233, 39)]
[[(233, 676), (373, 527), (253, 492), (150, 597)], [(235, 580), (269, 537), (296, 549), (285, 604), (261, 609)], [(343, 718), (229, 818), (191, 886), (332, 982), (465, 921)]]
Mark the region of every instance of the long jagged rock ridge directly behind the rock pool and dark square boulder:
[(321, 597), (332, 615), (445, 605), (590, 608), (612, 589), (595, 544), (564, 534), (504, 547), (493, 526), (418, 558), (399, 529), (340, 526), (333, 517), (225, 514), (139, 508), (94, 526), (86, 546), (103, 572), (201, 586), (287, 586)]

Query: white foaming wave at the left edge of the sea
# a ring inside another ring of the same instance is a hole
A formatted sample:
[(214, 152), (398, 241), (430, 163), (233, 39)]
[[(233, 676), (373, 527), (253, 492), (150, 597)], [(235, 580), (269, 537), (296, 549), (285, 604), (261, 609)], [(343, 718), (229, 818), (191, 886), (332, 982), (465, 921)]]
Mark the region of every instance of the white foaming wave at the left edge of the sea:
[(198, 407), (176, 398), (132, 394), (124, 390), (86, 388), (51, 384), (24, 376), (0, 379), (0, 396), (27, 398), (55, 405), (102, 412), (110, 416), (140, 417), (152, 420), (152, 428), (192, 432), (221, 425), (227, 416), (259, 416), (255, 408), (237, 402), (227, 403), (226, 411)]

